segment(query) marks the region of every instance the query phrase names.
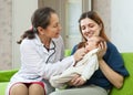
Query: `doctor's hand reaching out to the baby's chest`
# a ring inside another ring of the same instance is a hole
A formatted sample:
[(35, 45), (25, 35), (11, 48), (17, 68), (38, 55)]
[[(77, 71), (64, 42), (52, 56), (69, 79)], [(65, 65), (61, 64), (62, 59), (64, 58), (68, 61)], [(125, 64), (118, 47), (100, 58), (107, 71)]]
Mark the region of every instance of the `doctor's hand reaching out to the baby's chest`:
[(81, 49), (76, 50), (76, 52), (73, 54), (75, 62), (82, 60), (84, 55), (85, 55), (85, 49), (84, 48), (81, 48)]

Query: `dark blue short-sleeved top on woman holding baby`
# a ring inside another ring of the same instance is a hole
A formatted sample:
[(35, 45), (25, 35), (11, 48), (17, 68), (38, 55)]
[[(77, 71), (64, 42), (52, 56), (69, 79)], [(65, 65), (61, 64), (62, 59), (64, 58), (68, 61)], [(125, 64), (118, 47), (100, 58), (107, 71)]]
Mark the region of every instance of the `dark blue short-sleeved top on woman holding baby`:
[[(108, 50), (105, 55), (103, 56), (103, 60), (106, 62), (106, 64), (111, 68), (113, 68), (119, 74), (123, 76), (129, 76), (129, 72), (124, 67), (124, 61), (121, 54), (119, 53), (117, 49), (115, 48), (115, 45), (112, 44), (111, 42), (108, 42), (106, 44), (108, 44)], [(78, 45), (73, 48), (71, 54), (73, 54), (76, 51), (76, 49), (78, 49)], [(100, 68), (95, 71), (92, 77), (88, 80), (88, 82), (84, 85), (90, 85), (90, 84), (101, 86), (105, 89), (112, 88), (112, 84), (108, 81), (108, 78), (104, 76), (104, 74)]]

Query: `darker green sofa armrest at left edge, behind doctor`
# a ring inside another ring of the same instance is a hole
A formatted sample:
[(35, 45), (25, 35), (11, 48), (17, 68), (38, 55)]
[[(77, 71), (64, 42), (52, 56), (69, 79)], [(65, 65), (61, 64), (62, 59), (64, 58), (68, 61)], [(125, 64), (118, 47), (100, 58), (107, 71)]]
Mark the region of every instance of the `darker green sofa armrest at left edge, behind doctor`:
[(1, 82), (9, 82), (11, 76), (18, 72), (18, 70), (8, 70), (8, 71), (0, 71), (0, 83)]

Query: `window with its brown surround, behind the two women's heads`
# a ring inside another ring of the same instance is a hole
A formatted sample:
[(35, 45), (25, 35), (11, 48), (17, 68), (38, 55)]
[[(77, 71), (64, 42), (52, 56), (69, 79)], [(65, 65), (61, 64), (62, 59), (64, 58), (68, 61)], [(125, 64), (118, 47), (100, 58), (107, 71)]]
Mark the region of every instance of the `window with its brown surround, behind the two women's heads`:
[(39, 0), (39, 7), (51, 7), (58, 12), (65, 49), (82, 40), (78, 20), (83, 11), (91, 10), (91, 0)]

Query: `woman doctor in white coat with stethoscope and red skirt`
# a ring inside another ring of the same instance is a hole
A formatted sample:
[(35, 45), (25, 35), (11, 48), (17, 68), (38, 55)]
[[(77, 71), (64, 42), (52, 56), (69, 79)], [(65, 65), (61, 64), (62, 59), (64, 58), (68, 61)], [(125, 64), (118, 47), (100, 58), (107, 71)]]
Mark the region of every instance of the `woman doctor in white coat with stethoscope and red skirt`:
[(7, 88), (7, 95), (48, 95), (49, 78), (62, 73), (85, 54), (80, 49), (74, 55), (63, 59), (64, 45), (60, 35), (61, 25), (51, 8), (37, 9), (32, 29), (24, 32), (20, 44), (21, 67)]

